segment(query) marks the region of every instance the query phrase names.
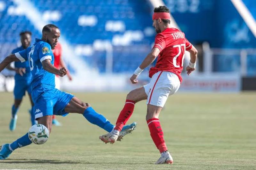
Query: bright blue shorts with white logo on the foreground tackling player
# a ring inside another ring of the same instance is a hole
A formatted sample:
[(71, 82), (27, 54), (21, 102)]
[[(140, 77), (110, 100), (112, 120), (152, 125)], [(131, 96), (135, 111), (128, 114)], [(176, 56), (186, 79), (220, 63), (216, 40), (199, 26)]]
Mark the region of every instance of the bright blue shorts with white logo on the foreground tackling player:
[(65, 107), (74, 96), (61, 92), (50, 85), (38, 86), (32, 90), (35, 119), (46, 115), (66, 116)]

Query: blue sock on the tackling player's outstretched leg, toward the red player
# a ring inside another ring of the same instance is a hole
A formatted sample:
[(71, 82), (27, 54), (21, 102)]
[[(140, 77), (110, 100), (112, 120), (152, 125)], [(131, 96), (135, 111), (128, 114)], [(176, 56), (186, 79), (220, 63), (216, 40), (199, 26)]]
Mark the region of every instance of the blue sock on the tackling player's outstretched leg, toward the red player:
[(83, 115), (90, 123), (95, 124), (108, 132), (111, 132), (114, 128), (114, 125), (111, 124), (108, 119), (95, 112), (92, 107), (85, 109)]

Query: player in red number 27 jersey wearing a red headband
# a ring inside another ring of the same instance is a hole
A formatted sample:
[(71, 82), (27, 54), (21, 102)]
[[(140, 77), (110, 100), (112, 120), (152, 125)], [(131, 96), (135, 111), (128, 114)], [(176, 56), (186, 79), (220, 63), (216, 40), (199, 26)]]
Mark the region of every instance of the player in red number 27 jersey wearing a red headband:
[(116, 121), (116, 127), (110, 133), (100, 136), (100, 139), (105, 143), (115, 143), (123, 126), (131, 117), (135, 103), (147, 99), (146, 120), (150, 136), (161, 153), (156, 164), (172, 164), (173, 159), (165, 144), (158, 116), (168, 96), (177, 92), (180, 87), (182, 82), (180, 73), (183, 68), (185, 51), (190, 53), (190, 63), (186, 68), (189, 75), (195, 70), (197, 50), (185, 38), (183, 32), (171, 27), (170, 11), (166, 6), (155, 8), (152, 19), (157, 33), (154, 47), (130, 78), (131, 82), (136, 84), (138, 82), (136, 78), (143, 69), (158, 56), (155, 67), (149, 70), (150, 83), (129, 92), (124, 108)]

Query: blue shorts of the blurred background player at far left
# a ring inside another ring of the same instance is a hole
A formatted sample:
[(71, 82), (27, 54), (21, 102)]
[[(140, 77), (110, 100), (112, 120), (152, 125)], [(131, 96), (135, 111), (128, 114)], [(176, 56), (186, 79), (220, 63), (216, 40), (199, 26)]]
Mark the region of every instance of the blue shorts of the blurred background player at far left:
[(14, 99), (21, 100), (26, 91), (31, 94), (31, 79), (15, 79)]

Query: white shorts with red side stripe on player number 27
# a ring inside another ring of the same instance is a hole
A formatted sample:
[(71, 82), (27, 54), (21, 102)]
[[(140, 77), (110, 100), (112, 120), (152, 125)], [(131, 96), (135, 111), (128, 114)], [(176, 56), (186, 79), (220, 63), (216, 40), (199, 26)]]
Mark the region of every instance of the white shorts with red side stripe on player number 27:
[(164, 107), (168, 96), (180, 88), (180, 79), (169, 71), (158, 71), (147, 85), (143, 86), (148, 95), (147, 104)]

